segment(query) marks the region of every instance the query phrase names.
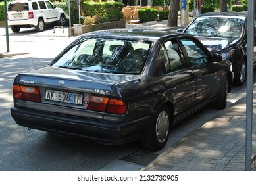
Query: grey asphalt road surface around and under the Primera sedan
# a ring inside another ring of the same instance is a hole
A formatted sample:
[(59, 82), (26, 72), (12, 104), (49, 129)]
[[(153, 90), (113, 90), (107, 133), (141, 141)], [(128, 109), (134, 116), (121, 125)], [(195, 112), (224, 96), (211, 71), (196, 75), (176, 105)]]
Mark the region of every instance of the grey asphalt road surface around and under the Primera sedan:
[[(165, 149), (159, 152), (141, 150), (139, 142), (107, 146), (18, 126), (10, 114), (14, 77), (44, 66), (74, 39), (76, 37), (67, 37), (61, 32), (52, 35), (51, 29), (42, 35), (34, 30), (22, 30), (19, 34), (10, 30), (10, 51), (26, 54), (0, 58), (0, 170), (140, 170), (220, 112), (209, 105), (173, 127)], [(0, 28), (0, 53), (5, 52), (5, 48), (4, 28)], [(233, 87), (228, 94), (228, 106), (243, 97), (245, 90), (246, 85)]]

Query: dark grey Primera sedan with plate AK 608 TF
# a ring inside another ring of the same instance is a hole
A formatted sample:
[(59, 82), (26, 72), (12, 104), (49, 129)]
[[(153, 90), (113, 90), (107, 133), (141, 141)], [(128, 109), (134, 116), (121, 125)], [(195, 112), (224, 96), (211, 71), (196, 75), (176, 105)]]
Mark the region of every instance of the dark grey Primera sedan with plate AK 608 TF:
[(105, 30), (18, 74), (11, 115), (32, 129), (159, 150), (180, 120), (209, 103), (225, 108), (231, 86), (232, 64), (192, 35)]

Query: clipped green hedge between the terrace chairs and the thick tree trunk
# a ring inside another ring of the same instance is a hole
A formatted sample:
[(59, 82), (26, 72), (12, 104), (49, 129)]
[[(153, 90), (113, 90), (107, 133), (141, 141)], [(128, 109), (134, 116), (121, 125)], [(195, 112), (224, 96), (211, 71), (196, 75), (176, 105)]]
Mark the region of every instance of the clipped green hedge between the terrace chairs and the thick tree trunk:
[(157, 9), (140, 9), (138, 11), (138, 16), (140, 19), (140, 22), (149, 22), (153, 21), (157, 18), (158, 11)]

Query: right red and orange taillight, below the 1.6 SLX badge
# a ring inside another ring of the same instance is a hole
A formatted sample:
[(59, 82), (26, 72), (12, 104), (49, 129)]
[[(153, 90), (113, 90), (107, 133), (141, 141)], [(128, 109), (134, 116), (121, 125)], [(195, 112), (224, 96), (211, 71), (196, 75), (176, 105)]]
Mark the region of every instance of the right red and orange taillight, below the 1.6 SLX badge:
[(127, 105), (118, 99), (91, 96), (87, 109), (111, 114), (125, 114)]

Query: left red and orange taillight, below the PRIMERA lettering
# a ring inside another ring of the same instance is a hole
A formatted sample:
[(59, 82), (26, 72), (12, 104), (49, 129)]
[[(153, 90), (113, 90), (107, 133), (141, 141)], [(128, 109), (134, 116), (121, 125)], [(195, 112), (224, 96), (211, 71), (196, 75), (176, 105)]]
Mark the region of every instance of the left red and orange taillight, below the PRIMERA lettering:
[(14, 99), (41, 102), (39, 87), (13, 85)]

